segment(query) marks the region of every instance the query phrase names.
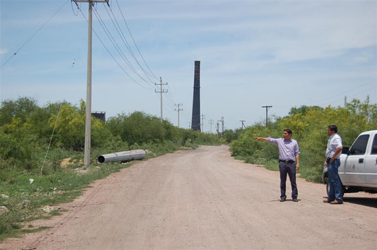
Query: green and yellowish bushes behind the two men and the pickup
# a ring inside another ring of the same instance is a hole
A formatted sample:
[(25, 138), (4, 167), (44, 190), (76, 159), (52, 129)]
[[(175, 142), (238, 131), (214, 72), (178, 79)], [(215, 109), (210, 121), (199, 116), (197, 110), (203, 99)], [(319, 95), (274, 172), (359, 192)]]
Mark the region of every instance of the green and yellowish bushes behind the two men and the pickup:
[(335, 124), (344, 147), (350, 147), (361, 132), (377, 128), (377, 105), (354, 99), (346, 108), (320, 108), (301, 106), (291, 108), (289, 116), (269, 121), (268, 127), (257, 123), (247, 127), (236, 140), (230, 143), (232, 155), (252, 164), (263, 164), (278, 171), (278, 149), (271, 143), (255, 141), (256, 136), (281, 138), (282, 131), (289, 128), (292, 138), (300, 146), (300, 176), (311, 182), (321, 182), (324, 154), (328, 141), (327, 127)]

